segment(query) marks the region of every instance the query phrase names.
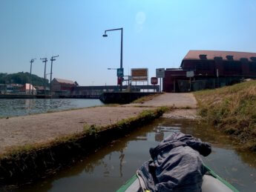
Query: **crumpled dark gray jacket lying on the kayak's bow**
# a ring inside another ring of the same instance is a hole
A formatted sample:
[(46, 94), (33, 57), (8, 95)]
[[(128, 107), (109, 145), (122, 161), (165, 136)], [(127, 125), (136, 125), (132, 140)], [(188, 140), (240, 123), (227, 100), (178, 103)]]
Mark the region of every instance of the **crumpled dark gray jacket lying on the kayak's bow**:
[(183, 133), (173, 133), (156, 148), (151, 159), (137, 171), (142, 191), (201, 191), (203, 166), (211, 145)]

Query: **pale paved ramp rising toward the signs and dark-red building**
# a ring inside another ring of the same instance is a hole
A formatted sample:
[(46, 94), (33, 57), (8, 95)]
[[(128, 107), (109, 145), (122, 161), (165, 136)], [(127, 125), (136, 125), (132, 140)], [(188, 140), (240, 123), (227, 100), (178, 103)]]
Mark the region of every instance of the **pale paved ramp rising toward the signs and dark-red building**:
[(192, 93), (163, 93), (154, 99), (143, 103), (131, 103), (124, 105), (125, 107), (140, 106), (140, 107), (197, 107), (197, 100)]

